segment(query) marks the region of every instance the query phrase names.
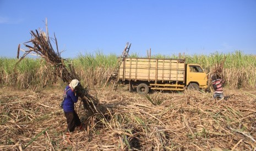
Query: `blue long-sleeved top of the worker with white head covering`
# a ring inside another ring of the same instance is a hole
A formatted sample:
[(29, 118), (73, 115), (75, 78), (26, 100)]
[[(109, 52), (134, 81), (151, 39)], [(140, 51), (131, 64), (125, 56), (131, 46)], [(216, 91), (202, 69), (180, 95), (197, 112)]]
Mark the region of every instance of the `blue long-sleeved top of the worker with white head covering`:
[[(66, 90), (68, 90), (70, 87), (69, 85), (66, 86)], [(73, 112), (74, 111), (74, 103), (77, 103), (78, 101), (78, 96), (75, 96), (75, 92), (72, 91), (71, 89), (68, 90), (67, 96), (64, 98), (64, 103), (63, 103), (63, 111), (64, 112)]]

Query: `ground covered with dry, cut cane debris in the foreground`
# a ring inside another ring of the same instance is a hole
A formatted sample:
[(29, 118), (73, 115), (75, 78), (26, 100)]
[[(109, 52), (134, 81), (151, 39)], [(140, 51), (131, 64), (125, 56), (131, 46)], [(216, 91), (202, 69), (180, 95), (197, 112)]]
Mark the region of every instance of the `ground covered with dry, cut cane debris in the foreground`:
[(199, 91), (146, 97), (105, 88), (97, 95), (105, 118), (67, 138), (62, 89), (1, 88), (0, 150), (255, 150), (256, 91), (224, 93), (228, 100), (215, 101)]

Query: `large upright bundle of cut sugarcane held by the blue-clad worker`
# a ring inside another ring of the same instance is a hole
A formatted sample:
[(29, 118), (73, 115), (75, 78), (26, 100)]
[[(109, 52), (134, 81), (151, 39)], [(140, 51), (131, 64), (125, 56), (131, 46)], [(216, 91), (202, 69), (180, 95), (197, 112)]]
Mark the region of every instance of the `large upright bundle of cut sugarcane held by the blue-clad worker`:
[[(52, 44), (50, 42), (50, 37), (48, 36), (48, 30), (47, 30), (47, 23), (46, 23), (46, 33), (43, 31), (30, 31), (31, 33), (31, 40), (29, 42), (25, 42), (24, 45), (29, 50), (25, 50), (24, 55), (18, 60), (17, 63), (19, 63), (21, 60), (24, 59), (26, 55), (28, 55), (31, 52), (36, 53), (36, 55), (39, 55), (42, 57), (42, 59), (45, 59), (47, 63), (50, 63), (53, 67), (55, 67), (55, 74), (58, 75), (58, 77), (62, 78), (63, 82), (69, 84), (71, 80), (73, 79), (79, 79), (77, 75), (74, 72), (74, 69), (69, 66), (70, 72), (67, 69), (67, 66), (64, 63), (64, 59), (61, 57), (61, 53), (58, 51), (58, 45), (57, 45), (57, 39), (56, 36), (54, 38), (57, 48), (57, 53), (52, 47)], [(18, 55), (20, 51), (20, 45), (18, 47)], [(18, 56), (17, 56), (18, 57)], [(84, 108), (88, 110), (90, 115), (93, 115), (95, 113), (98, 113), (95, 104), (97, 104), (98, 100), (94, 97), (88, 94), (88, 91), (86, 88), (83, 88), (83, 86), (79, 86), (77, 95), (81, 98), (81, 101), (84, 104)], [(88, 116), (90, 116), (88, 115)]]

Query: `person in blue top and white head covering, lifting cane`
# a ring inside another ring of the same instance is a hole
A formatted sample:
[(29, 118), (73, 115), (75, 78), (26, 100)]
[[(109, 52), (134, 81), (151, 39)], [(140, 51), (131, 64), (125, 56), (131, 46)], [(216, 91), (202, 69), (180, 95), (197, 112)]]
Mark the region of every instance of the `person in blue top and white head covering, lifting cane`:
[(80, 82), (77, 79), (74, 79), (66, 86), (64, 90), (64, 102), (63, 102), (63, 111), (67, 119), (68, 129), (67, 135), (69, 132), (73, 132), (75, 127), (81, 127), (81, 121), (78, 117), (78, 114), (75, 112), (74, 103), (77, 103), (78, 96), (76, 95), (76, 89)]

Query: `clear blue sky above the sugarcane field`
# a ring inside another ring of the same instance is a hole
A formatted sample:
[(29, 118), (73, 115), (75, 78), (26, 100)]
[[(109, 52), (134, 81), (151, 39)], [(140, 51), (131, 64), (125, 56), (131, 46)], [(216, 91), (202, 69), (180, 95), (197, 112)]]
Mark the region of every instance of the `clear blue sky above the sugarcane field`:
[[(256, 54), (256, 0), (0, 0), (0, 56), (16, 57), (30, 30), (55, 32), (63, 57), (79, 53)], [(24, 47), (23, 47), (24, 48)]]

